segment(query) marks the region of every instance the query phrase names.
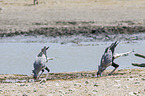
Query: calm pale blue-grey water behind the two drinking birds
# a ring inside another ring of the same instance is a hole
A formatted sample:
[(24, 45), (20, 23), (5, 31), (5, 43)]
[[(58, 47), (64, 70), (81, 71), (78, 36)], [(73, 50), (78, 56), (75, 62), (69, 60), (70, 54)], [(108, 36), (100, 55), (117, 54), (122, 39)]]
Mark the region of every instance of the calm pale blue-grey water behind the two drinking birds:
[[(31, 75), (36, 55), (43, 46), (49, 46), (48, 57), (55, 57), (47, 63), (50, 72), (76, 72), (97, 70), (98, 64), (106, 47), (112, 42), (82, 42), (80, 44), (67, 43), (0, 43), (0, 74), (25, 74)], [(131, 49), (135, 53), (145, 54), (145, 40), (135, 42), (121, 42), (116, 53), (127, 52)], [(133, 62), (143, 63), (144, 59), (135, 57), (134, 53), (127, 57), (115, 60), (120, 65), (119, 69), (137, 68)], [(113, 69), (109, 67), (107, 69)]]

